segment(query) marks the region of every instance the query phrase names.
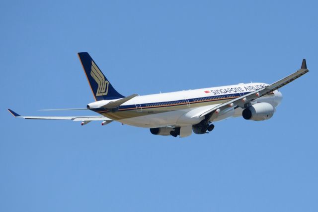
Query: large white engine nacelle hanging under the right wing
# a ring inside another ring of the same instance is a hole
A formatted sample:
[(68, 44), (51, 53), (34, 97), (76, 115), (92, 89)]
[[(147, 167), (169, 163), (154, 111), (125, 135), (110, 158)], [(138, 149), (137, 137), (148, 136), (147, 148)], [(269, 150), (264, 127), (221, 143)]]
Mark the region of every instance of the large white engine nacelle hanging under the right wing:
[(269, 103), (256, 103), (243, 110), (242, 116), (246, 120), (262, 121), (270, 119), (275, 112), (274, 107)]

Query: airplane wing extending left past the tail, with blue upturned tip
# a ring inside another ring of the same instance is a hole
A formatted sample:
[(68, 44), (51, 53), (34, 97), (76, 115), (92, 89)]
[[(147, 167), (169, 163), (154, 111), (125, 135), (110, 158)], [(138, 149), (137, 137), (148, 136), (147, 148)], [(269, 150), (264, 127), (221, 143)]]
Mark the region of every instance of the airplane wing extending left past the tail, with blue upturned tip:
[(51, 120), (73, 120), (73, 121), (81, 121), (81, 125), (89, 123), (90, 121), (103, 121), (102, 125), (106, 125), (113, 120), (107, 118), (105, 116), (21, 116), (18, 113), (14, 112), (11, 109), (8, 111), (17, 118), (25, 118), (25, 119), (51, 119)]

